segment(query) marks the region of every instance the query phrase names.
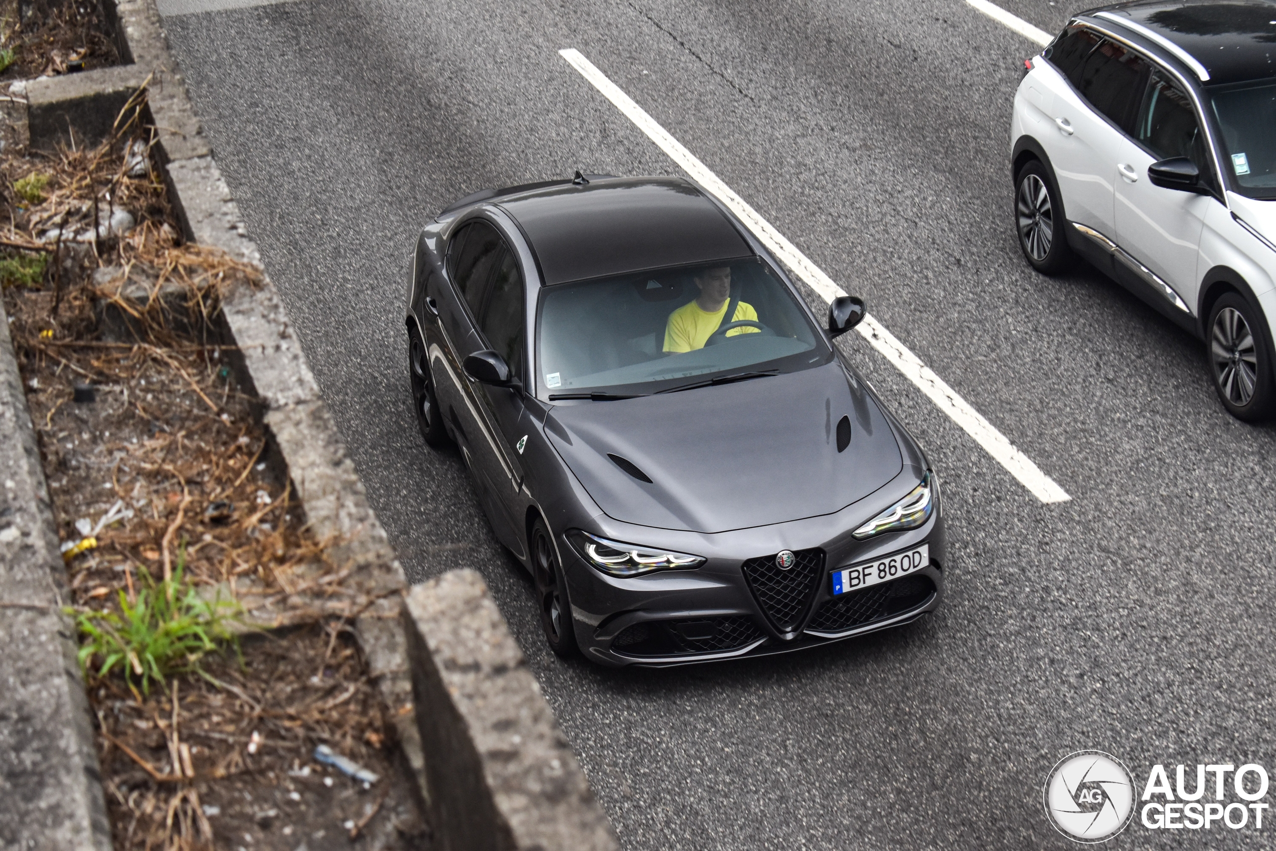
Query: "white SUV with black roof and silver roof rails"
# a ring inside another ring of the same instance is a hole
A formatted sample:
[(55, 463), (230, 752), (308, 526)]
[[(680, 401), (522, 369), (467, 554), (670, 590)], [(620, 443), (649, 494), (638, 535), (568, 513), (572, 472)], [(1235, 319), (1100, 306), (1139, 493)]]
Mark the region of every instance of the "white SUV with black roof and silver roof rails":
[(1086, 256), (1206, 342), (1228, 411), (1276, 413), (1276, 4), (1104, 6), (1027, 65), (1011, 142), (1028, 263)]

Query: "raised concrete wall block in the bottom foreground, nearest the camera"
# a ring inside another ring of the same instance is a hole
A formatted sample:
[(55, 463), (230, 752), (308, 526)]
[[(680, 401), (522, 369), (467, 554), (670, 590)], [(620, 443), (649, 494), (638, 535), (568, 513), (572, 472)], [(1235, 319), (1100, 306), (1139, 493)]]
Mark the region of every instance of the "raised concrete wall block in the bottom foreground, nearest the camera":
[(440, 851), (620, 845), (527, 670), (518, 643), (473, 570), (412, 588), (404, 629)]

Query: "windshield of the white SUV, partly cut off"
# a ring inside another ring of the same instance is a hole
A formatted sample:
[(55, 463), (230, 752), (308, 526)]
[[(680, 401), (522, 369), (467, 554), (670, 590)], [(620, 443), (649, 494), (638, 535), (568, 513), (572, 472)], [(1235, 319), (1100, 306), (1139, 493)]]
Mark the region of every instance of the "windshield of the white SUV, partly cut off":
[(1210, 89), (1222, 130), (1224, 168), (1249, 198), (1276, 199), (1276, 83)]

